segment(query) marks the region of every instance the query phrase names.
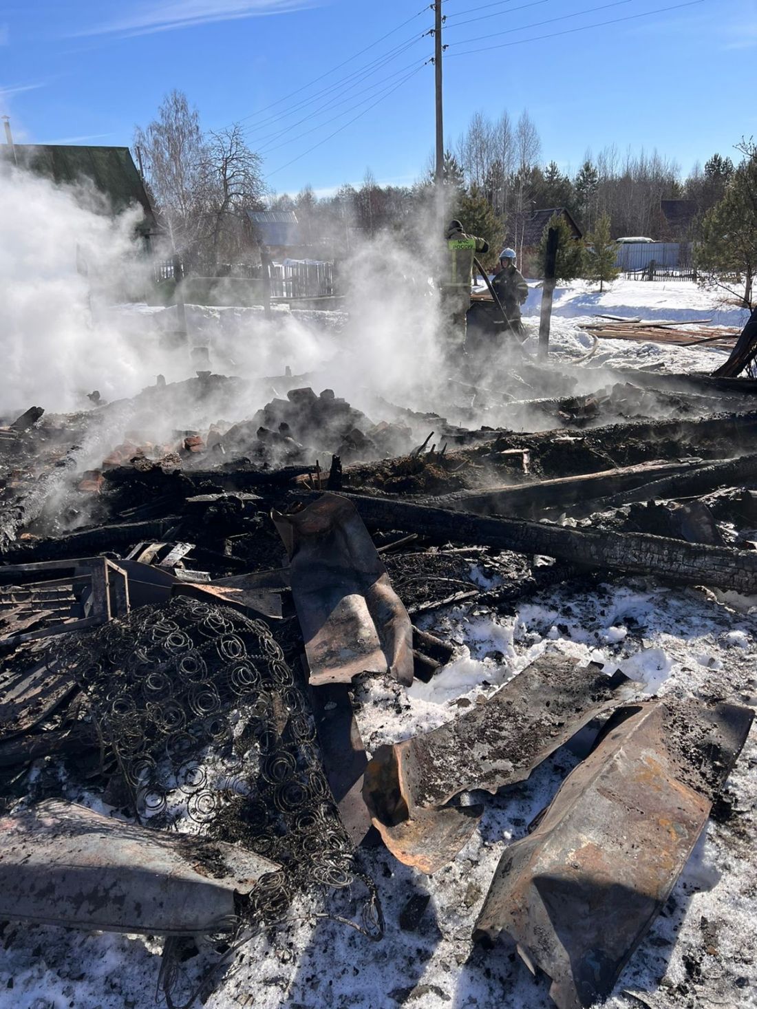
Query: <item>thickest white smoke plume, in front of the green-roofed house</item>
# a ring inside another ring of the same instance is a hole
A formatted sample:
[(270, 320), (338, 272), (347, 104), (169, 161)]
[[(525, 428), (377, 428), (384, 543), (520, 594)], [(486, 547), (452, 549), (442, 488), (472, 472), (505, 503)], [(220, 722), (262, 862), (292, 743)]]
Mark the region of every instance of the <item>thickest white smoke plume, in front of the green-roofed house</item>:
[(147, 275), (132, 238), (140, 212), (113, 219), (95, 205), (83, 190), (15, 170), (0, 176), (3, 411), (72, 409), (94, 388), (135, 383), (138, 350), (98, 326), (96, 313), (106, 290), (128, 296)]

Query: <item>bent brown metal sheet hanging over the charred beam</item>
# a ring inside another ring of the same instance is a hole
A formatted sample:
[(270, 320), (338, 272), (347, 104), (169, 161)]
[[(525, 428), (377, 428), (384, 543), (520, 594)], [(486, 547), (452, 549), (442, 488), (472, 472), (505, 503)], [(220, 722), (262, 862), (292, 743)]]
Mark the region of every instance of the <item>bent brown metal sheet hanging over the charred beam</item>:
[(272, 517), (290, 559), (310, 682), (389, 672), (412, 683), (410, 618), (351, 501), (323, 494), (300, 512)]

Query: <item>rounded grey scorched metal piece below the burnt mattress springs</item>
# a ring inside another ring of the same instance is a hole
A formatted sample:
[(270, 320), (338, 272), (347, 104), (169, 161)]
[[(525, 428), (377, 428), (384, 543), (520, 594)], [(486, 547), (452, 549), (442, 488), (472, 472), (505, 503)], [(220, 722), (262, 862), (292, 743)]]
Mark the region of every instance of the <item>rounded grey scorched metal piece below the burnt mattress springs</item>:
[(224, 930), (234, 895), (279, 867), (222, 842), (47, 800), (0, 819), (0, 917), (105, 931)]

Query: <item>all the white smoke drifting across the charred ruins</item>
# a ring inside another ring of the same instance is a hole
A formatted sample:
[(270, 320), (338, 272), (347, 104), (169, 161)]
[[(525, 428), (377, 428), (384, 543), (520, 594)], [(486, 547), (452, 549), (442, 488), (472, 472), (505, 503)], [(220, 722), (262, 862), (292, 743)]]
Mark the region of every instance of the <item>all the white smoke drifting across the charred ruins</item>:
[[(140, 214), (135, 208), (113, 217), (94, 192), (14, 170), (0, 176), (0, 416), (31, 405), (47, 413), (89, 409), (88, 393), (98, 389), (110, 402), (133, 397), (154, 386), (158, 373), (183, 382), (207, 368), (192, 357), (194, 347), (205, 346), (214, 372), (245, 380), (232, 399), (199, 402), (191, 382), (171, 396), (156, 390), (135, 412), (124, 409), (120, 419), (111, 413), (107, 423), (104, 417), (102, 440), (115, 444), (128, 432), (129, 439), (157, 441), (175, 430), (251, 418), (292, 387), (275, 378), (287, 368), (305, 374), (301, 384), (316, 393), (333, 388), (374, 422), (393, 419), (386, 400), (466, 427), (553, 423), (508, 406), (555, 395), (554, 383), (533, 377), (522, 390), (513, 383), (530, 359), (517, 341), (495, 337), (486, 359), (476, 361), (444, 346), (433, 281), (444, 243), (435, 215), (411, 231), (416, 251), (391, 233), (356, 243), (341, 271), (346, 314), (275, 307), (265, 319), (261, 308), (188, 305), (189, 338), (182, 340), (174, 339), (176, 307), (144, 303), (153, 282), (135, 238)], [(503, 383), (509, 394), (500, 395)], [(600, 383), (592, 374), (586, 385)], [(93, 448), (93, 460), (99, 451)]]

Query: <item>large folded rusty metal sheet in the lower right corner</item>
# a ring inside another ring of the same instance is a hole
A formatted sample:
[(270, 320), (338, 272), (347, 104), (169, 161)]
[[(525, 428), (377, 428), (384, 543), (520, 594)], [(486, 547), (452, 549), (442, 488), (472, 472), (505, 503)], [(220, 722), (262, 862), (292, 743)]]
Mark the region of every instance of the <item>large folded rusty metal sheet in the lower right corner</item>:
[(616, 712), (497, 869), (474, 937), (507, 932), (559, 1009), (607, 997), (672, 890), (754, 712), (650, 701)]

